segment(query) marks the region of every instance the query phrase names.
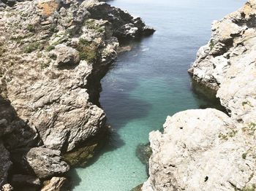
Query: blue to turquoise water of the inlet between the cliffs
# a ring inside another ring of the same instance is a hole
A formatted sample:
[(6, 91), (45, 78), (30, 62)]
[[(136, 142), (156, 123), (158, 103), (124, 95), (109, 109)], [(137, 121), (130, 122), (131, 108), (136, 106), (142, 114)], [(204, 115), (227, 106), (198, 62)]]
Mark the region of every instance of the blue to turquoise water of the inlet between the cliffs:
[(129, 191), (146, 181), (146, 167), (135, 155), (151, 130), (167, 115), (209, 106), (193, 91), (187, 74), (211, 22), (245, 0), (116, 0), (109, 3), (140, 15), (157, 32), (134, 42), (102, 79), (100, 103), (113, 127), (111, 140), (91, 165), (72, 171), (75, 191)]

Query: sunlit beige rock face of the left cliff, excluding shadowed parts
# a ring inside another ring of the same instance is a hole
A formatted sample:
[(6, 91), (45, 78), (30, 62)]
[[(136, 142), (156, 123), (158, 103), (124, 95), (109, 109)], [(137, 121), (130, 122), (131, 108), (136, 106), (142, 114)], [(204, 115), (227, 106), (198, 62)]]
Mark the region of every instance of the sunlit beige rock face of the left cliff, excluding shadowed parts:
[[(80, 9), (78, 3), (74, 3), (66, 11), (61, 7), (62, 12), (66, 13), (61, 16), (61, 13), (53, 12), (54, 7), (48, 9), (54, 3), (56, 4), (55, 1), (26, 1), (16, 4), (16, 9), (3, 12), (2, 21), (6, 22), (2, 28), (7, 30), (7, 26), (12, 25), (13, 31), (6, 34), (6, 31), (1, 30), (2, 38), (7, 41), (2, 47), (4, 51), (1, 63), (7, 69), (2, 77), (8, 81), (7, 96), (18, 117), (26, 121), (30, 128), (39, 131), (43, 144), (48, 148), (65, 152), (97, 134), (105, 123), (102, 109), (89, 102), (86, 85), (94, 66), (86, 59), (91, 55), (96, 57), (96, 51), (105, 50), (107, 56), (115, 54), (118, 43), (112, 36), (105, 39), (103, 21), (99, 21), (102, 32), (81, 26), (74, 30), (82, 37), (73, 37), (72, 28), (78, 26), (72, 26), (72, 22), (86, 20), (86, 9)], [(25, 9), (29, 9), (26, 12), (30, 14), (24, 14)], [(73, 12), (82, 11), (85, 12), (81, 15), (83, 19), (75, 17)], [(65, 17), (71, 20), (69, 28)], [(22, 22), (24, 18), (27, 23), (18, 26), (18, 22)], [(59, 23), (54, 23), (53, 19)], [(53, 33), (53, 30), (59, 32)], [(81, 39), (88, 44), (82, 44)], [(91, 44), (97, 44), (97, 50), (92, 50)], [(83, 45), (88, 50), (80, 50), (80, 54), (84, 56), (83, 61), (79, 62), (76, 49), (78, 46), (83, 48)], [(49, 52), (50, 49), (54, 50)], [(103, 59), (105, 55), (99, 55), (97, 59)], [(12, 146), (20, 145), (10, 145)]]

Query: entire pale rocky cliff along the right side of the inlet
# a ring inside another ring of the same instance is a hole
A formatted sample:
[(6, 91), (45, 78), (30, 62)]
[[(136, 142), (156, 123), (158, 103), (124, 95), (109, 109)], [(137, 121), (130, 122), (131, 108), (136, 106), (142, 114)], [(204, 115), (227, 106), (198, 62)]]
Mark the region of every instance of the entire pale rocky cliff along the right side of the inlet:
[(150, 133), (142, 190), (256, 190), (256, 1), (212, 25), (189, 72), (215, 90), (229, 116), (195, 109)]

